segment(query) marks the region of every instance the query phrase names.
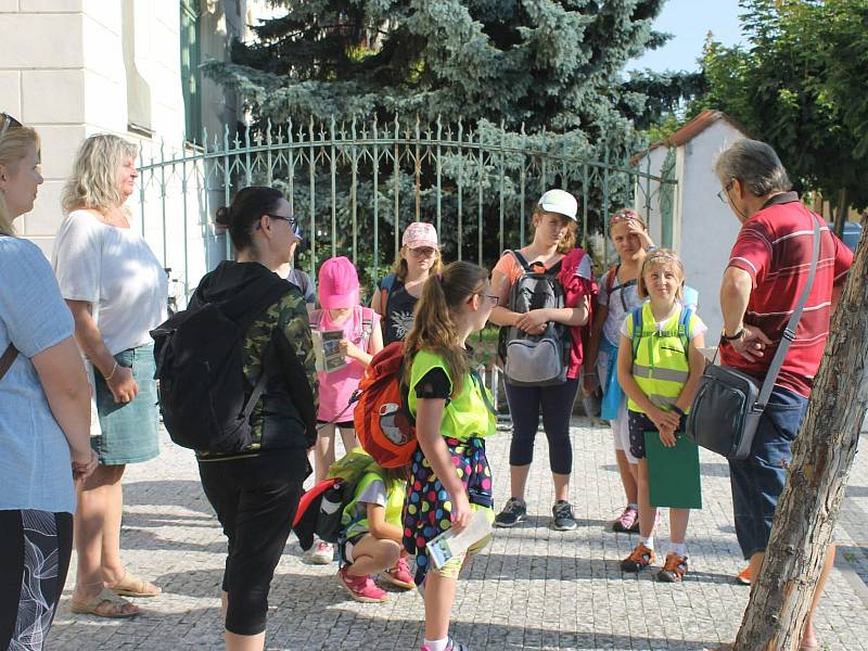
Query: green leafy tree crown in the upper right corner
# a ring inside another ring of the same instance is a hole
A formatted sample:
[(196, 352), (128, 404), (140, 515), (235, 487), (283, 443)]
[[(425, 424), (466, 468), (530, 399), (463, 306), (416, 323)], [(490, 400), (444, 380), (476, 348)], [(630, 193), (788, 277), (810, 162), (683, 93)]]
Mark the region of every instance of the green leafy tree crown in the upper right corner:
[(803, 190), (868, 205), (868, 2), (742, 0), (746, 47), (710, 40), (707, 93), (691, 113), (719, 108), (765, 140)]

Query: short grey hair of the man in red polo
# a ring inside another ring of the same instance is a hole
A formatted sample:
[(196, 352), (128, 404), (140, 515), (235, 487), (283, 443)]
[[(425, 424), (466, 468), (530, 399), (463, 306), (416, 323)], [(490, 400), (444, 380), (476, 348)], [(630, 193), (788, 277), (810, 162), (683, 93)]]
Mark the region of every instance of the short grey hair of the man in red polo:
[(722, 186), (738, 179), (754, 196), (787, 192), (793, 187), (775, 150), (765, 142), (746, 138), (720, 152), (714, 173)]

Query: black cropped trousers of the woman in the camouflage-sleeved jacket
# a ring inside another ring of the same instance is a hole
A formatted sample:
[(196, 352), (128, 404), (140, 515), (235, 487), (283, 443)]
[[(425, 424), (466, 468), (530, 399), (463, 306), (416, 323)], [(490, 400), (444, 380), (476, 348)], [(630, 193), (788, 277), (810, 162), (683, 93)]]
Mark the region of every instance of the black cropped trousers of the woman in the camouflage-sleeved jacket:
[(229, 538), (222, 580), (229, 596), (229, 633), (265, 630), (268, 591), (290, 535), (306, 469), (304, 450), (199, 462), (205, 496)]

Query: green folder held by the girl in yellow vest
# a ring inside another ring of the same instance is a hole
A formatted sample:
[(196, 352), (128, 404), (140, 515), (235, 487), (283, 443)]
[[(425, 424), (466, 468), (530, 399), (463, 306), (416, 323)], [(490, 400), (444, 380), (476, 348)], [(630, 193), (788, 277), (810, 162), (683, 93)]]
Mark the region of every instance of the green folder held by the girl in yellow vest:
[(668, 448), (658, 432), (644, 433), (651, 506), (701, 509), (699, 448), (684, 433), (677, 436), (675, 447)]

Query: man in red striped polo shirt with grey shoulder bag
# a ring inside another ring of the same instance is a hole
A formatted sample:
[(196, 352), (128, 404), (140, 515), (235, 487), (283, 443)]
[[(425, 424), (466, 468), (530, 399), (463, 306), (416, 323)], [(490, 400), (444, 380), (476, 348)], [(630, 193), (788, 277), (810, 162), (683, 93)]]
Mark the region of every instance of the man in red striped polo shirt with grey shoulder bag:
[[(790, 192), (792, 184), (775, 150), (764, 142), (738, 141), (719, 155), (715, 174), (723, 186), (718, 196), (742, 224), (720, 288), (722, 359), (762, 383), (807, 282), (814, 222), (799, 195)], [(736, 535), (750, 560), (749, 569), (739, 575), (743, 583), (760, 574), (775, 508), (787, 481), (790, 446), (807, 409), (829, 336), (829, 320), (853, 263), (853, 253), (818, 219), (817, 272), (795, 341), (775, 382), (750, 457), (729, 462)], [(803, 649), (816, 648), (814, 611), (833, 560), (834, 547), (830, 546)]]

